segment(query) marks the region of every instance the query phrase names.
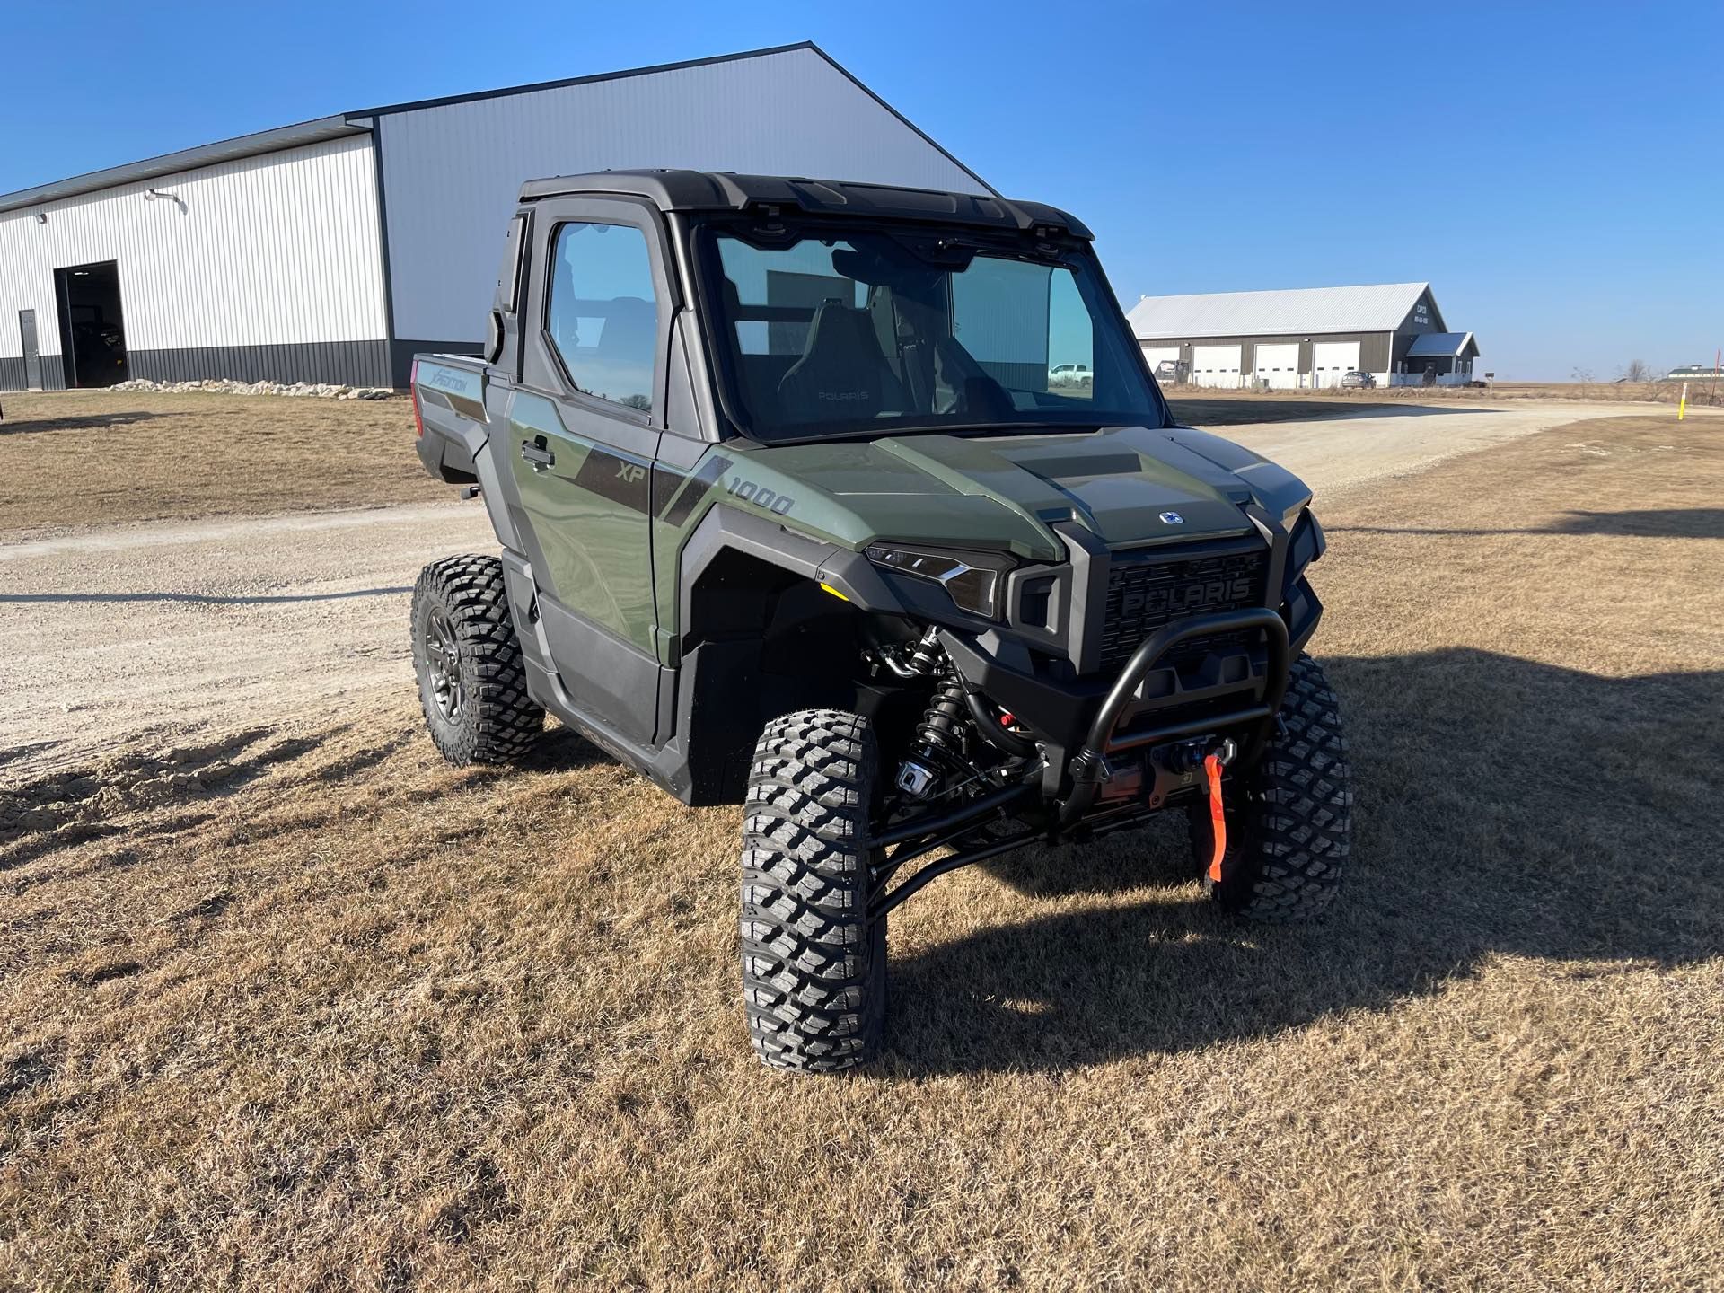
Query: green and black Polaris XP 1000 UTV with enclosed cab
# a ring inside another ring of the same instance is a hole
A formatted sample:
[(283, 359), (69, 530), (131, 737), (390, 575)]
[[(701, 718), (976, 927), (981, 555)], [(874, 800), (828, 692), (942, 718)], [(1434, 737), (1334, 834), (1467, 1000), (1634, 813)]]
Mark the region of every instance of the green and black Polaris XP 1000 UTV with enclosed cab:
[(414, 591), (433, 740), (505, 760), (550, 710), (745, 805), (771, 1065), (874, 1057), (888, 914), (1021, 845), (1176, 810), (1226, 910), (1334, 896), (1310, 491), (1174, 422), (1090, 243), (991, 197), (540, 179), (484, 359), (415, 362), (419, 457), (502, 545)]

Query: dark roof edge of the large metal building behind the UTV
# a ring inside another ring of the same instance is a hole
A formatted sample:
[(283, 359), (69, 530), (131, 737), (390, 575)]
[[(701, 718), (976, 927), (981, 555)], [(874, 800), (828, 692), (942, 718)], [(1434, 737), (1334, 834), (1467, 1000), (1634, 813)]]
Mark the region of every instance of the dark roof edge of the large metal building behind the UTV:
[(888, 103), (884, 98), (869, 90), (848, 67), (840, 64), (833, 55), (815, 45), (812, 40), (796, 41), (795, 45), (774, 45), (764, 50), (743, 50), (740, 53), (719, 53), (710, 59), (686, 59), (683, 62), (662, 62), (652, 64), (648, 67), (629, 67), (619, 72), (598, 72), (595, 76), (572, 76), (564, 81), (534, 81), (531, 84), (505, 86), (502, 90), (481, 90), (471, 95), (450, 95), (447, 98), (419, 98), (407, 103), (386, 103), (383, 107), (355, 109), (352, 112), (338, 112), (329, 117), (317, 117), (314, 121), (302, 121), (295, 126), (279, 126), (276, 129), (257, 131), (253, 134), (238, 134), (231, 140), (219, 140), (216, 143), (205, 143), (197, 148), (181, 148), (179, 152), (162, 153), (160, 157), (148, 157), (141, 162), (128, 162), (124, 166), (110, 166), (103, 171), (90, 171), (81, 176), (72, 176), (69, 179), (57, 179), (48, 184), (36, 184), (34, 188), (21, 188), (14, 193), (0, 193), (0, 212), (17, 210), (19, 207), (33, 207), (41, 202), (53, 202), (55, 198), (71, 198), (79, 193), (95, 193), (102, 188), (114, 188), (116, 184), (131, 184), (141, 179), (153, 179), (157, 176), (172, 174), (176, 171), (191, 171), (200, 166), (216, 166), (217, 162), (233, 162), (241, 157), (257, 157), (259, 153), (272, 153), (281, 148), (297, 148), (305, 143), (322, 143), (324, 140), (333, 140), (343, 134), (365, 134), (371, 131), (378, 117), (393, 112), (419, 112), (422, 109), (448, 107), (450, 103), (471, 103), (481, 98), (505, 98), (509, 95), (531, 95), (538, 90), (562, 90), (565, 86), (576, 84), (593, 84), (598, 81), (617, 81), (631, 76), (652, 76), (655, 72), (676, 72), (684, 67), (705, 67), (717, 62), (741, 62), (745, 59), (764, 59), (774, 53), (790, 53), (791, 50), (809, 50), (826, 62), (829, 62), (841, 76), (855, 83), (862, 93), (872, 98), (879, 107), (895, 116), (905, 126), (909, 126), (915, 134), (922, 138), (928, 147), (934, 148), (955, 167), (971, 176), (978, 184), (988, 193), (993, 193), (993, 186), (971, 171), (964, 162), (941, 148), (934, 140), (922, 131), (914, 121), (905, 117), (898, 109)]

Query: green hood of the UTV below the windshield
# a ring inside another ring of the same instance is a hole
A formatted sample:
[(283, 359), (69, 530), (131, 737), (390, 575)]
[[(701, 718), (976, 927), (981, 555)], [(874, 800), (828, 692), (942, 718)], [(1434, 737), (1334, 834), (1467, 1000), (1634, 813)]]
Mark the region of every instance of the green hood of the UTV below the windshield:
[(1109, 547), (1190, 543), (1250, 533), (1246, 503), (1279, 517), (1309, 497), (1274, 464), (1184, 428), (891, 436), (750, 448), (746, 460), (779, 495), (800, 488), (788, 521), (846, 547), (903, 540), (1034, 560), (1064, 555), (1062, 522)]

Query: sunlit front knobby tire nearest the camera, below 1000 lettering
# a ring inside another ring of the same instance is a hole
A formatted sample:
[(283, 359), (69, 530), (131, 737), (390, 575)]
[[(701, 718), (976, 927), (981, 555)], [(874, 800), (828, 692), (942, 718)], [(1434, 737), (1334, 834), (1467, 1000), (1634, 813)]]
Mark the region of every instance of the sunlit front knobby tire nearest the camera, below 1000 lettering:
[(765, 726), (743, 819), (741, 959), (748, 1036), (774, 1069), (836, 1072), (879, 1053), (886, 921), (869, 921), (878, 753), (843, 710)]

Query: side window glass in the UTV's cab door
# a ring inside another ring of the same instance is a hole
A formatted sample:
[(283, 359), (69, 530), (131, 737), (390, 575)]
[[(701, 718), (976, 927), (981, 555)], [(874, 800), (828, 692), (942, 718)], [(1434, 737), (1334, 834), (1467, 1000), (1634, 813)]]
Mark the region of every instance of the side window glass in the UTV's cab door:
[(659, 302), (646, 234), (631, 224), (564, 224), (550, 264), (547, 334), (583, 395), (652, 412)]

